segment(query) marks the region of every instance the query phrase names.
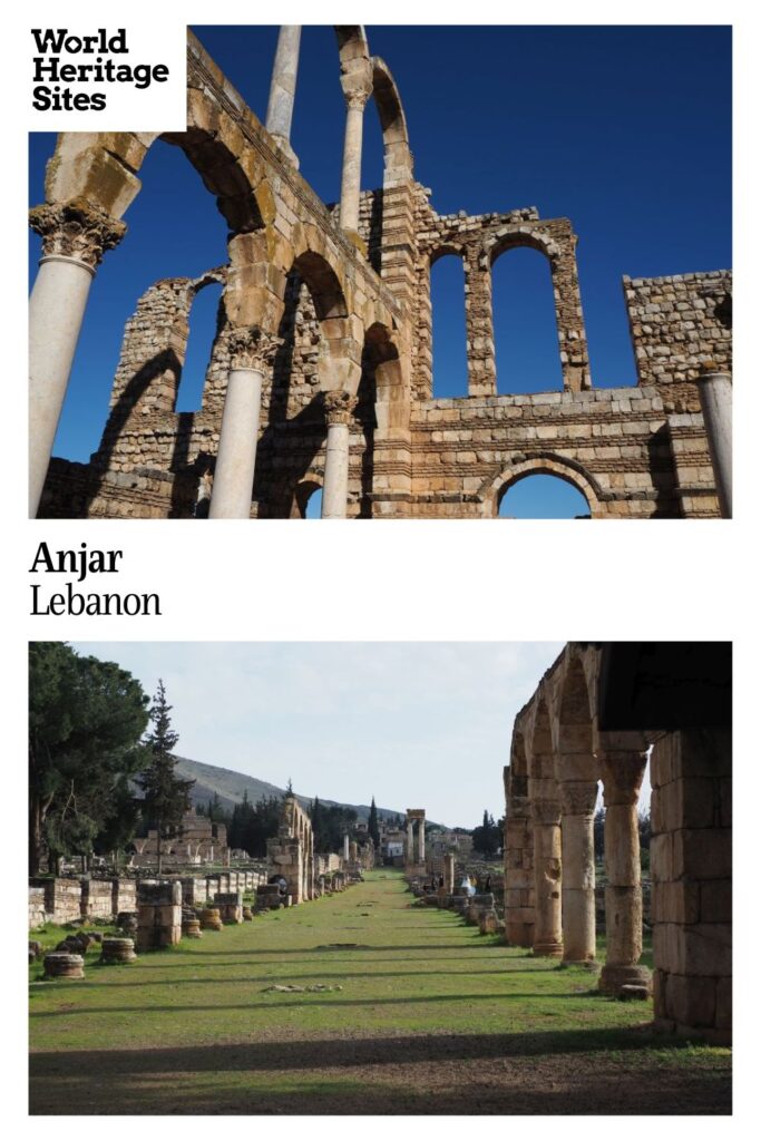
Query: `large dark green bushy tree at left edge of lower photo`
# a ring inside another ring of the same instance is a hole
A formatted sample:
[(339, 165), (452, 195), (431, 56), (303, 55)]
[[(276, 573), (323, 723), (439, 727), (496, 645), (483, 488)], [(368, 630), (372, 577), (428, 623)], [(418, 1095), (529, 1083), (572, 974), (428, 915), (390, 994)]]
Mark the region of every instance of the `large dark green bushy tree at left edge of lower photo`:
[[(30, 646), (30, 872), (89, 855), (98, 834), (116, 828), (130, 777), (144, 762), (148, 698), (114, 662), (83, 657), (65, 642)], [(122, 822), (126, 825), (133, 823)]]

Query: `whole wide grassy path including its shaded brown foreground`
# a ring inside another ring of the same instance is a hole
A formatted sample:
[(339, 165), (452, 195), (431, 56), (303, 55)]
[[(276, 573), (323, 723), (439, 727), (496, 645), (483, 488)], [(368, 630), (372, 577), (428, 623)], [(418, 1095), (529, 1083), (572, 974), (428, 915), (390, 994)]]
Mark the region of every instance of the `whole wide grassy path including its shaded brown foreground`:
[(83, 982), (33, 968), (32, 1112), (727, 1111), (728, 1051), (411, 899), (375, 872)]

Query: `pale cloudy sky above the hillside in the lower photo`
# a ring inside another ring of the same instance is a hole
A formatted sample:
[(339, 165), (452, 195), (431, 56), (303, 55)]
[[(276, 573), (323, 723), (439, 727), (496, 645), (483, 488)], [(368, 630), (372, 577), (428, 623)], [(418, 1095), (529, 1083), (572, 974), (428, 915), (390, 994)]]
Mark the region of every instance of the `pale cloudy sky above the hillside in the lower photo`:
[(177, 752), (325, 800), (504, 812), (512, 721), (564, 642), (73, 642), (153, 695)]

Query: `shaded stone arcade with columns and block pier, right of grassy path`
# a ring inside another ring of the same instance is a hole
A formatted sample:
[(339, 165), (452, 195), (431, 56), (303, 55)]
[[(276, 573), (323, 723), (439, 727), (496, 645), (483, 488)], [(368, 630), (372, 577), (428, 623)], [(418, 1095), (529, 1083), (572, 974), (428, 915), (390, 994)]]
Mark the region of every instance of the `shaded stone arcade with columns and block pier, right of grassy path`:
[[(516, 718), (504, 770), (507, 941), (594, 960), (601, 788), (600, 988), (651, 987), (656, 1027), (718, 1042), (731, 1033), (730, 672), (722, 644), (569, 642)], [(637, 818), (648, 754), (651, 978)]]

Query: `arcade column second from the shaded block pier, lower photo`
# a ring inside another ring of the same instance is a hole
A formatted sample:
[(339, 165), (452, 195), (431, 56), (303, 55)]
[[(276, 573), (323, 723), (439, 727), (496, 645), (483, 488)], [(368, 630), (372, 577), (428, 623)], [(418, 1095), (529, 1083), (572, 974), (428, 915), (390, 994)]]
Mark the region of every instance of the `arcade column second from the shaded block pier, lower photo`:
[(566, 963), (596, 954), (594, 804), (597, 782), (560, 785), (562, 804), (562, 949)]

